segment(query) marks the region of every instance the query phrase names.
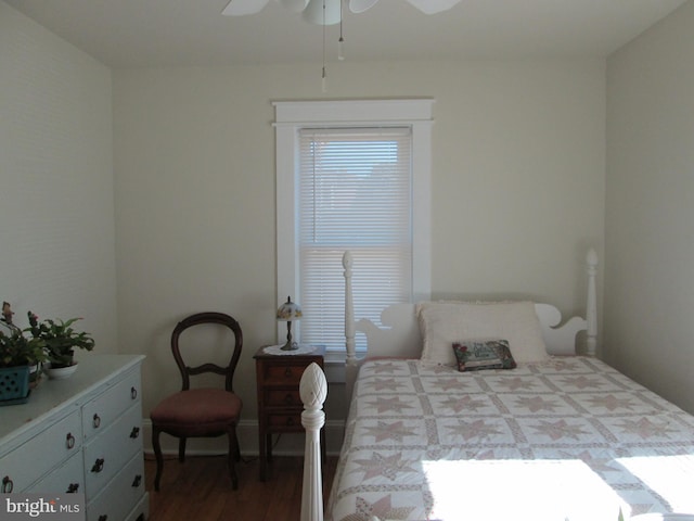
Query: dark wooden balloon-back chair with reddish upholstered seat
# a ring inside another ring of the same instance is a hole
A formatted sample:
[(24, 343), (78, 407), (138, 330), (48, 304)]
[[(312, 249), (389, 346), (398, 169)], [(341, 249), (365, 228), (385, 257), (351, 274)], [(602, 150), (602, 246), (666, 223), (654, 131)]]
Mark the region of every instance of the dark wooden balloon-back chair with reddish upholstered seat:
[[(189, 328), (201, 325), (220, 325), (229, 328), (234, 335), (233, 352), (226, 367), (206, 363), (190, 367), (183, 361), (179, 348), (179, 338)], [(159, 481), (164, 469), (159, 433), (166, 432), (179, 439), (178, 459), (185, 459), (185, 441), (189, 437), (216, 437), (227, 434), (229, 437), (229, 475), (233, 488), (239, 487), (239, 480), (234, 469), (234, 461), (241, 459), (239, 440), (236, 439), (236, 424), (241, 415), (242, 402), (233, 392), (233, 378), (241, 350), (243, 334), (239, 322), (223, 313), (198, 313), (184, 318), (171, 333), (171, 352), (181, 372), (181, 391), (164, 398), (152, 410), (152, 446), (156, 457), (156, 476), (154, 490), (159, 490)], [(192, 376), (215, 373), (224, 377), (224, 389), (200, 387), (191, 389)]]

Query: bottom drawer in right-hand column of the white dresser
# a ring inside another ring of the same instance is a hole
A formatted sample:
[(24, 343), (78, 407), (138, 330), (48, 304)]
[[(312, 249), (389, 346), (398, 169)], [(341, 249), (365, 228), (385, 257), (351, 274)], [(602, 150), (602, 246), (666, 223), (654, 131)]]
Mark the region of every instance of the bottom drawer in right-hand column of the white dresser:
[(144, 460), (142, 454), (136, 454), (108, 483), (108, 487), (89, 501), (87, 520), (124, 520), (139, 505), (143, 494)]

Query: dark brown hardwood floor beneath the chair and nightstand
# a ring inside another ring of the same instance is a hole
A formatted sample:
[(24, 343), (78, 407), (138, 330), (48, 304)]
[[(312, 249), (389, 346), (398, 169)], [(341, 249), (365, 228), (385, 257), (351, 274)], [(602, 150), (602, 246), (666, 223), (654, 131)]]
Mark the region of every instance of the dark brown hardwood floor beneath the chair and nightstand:
[[(327, 500), (337, 458), (327, 458), (323, 473), (323, 501)], [(268, 479), (258, 480), (258, 459), (236, 463), (239, 490), (231, 488), (226, 456), (176, 457), (164, 462), (162, 486), (154, 492), (156, 463), (145, 456), (151, 521), (298, 521), (301, 511), (303, 457), (274, 456)]]

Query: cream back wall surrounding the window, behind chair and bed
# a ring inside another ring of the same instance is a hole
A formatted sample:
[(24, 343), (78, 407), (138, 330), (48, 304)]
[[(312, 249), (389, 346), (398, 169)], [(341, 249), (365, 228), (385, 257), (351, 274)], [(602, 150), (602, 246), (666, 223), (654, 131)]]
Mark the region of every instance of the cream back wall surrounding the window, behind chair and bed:
[[(237, 392), (275, 341), (272, 100), (429, 97), (433, 290), (528, 295), (581, 312), (603, 247), (604, 61), (345, 63), (114, 72), (120, 340), (144, 353), (144, 411), (178, 389), (177, 320), (216, 309), (244, 331)], [(344, 415), (331, 389), (329, 420)]]

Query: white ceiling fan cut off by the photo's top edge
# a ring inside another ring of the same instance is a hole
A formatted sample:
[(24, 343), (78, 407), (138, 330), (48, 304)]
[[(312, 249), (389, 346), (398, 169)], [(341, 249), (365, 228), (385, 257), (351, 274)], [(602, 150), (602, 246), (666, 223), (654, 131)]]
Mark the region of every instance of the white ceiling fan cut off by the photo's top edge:
[[(228, 16), (244, 16), (256, 14), (270, 0), (231, 0), (221, 14)], [(352, 13), (362, 13), (372, 8), (378, 0), (275, 0), (282, 7), (294, 13), (301, 13), (307, 22), (319, 25), (333, 25), (342, 18), (342, 5), (349, 4)], [(424, 14), (435, 14), (448, 11), (461, 0), (407, 0)], [(324, 11), (323, 11), (324, 8)]]

